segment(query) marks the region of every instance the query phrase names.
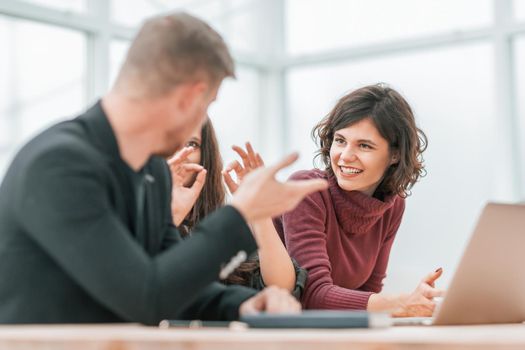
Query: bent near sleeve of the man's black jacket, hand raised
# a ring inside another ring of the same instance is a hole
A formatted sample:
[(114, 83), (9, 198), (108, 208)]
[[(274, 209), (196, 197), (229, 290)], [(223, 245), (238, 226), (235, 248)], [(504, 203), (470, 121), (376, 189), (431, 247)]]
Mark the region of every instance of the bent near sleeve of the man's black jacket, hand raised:
[[(231, 315), (232, 305), (253, 294), (231, 294), (235, 301), (228, 302), (226, 290), (210, 286), (221, 264), (239, 250), (256, 249), (233, 207), (210, 215), (191, 239), (150, 257), (111, 204), (109, 191), (115, 186), (104, 174), (108, 168), (83, 152), (59, 149), (42, 154), (27, 170), (14, 203), (24, 230), (88, 294), (124, 320), (156, 324), (182, 313), (190, 316), (187, 310), (199, 299), (201, 314)], [(225, 302), (217, 305), (230, 311), (212, 310), (211, 301), (221, 298)]]

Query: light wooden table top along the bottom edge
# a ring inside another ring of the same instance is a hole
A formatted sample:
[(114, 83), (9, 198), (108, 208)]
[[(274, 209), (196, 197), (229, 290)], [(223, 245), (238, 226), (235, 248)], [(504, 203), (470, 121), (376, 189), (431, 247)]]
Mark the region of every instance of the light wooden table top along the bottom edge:
[(525, 325), (347, 330), (158, 329), (140, 325), (0, 326), (0, 349), (525, 349)]

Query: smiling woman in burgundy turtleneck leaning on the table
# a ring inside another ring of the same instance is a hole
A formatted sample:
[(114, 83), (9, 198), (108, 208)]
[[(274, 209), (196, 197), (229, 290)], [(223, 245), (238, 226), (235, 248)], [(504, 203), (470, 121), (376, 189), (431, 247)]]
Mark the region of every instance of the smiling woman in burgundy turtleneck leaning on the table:
[(303, 305), (432, 315), (441, 269), (411, 294), (380, 293), (405, 198), (423, 173), (426, 136), (412, 109), (397, 91), (366, 86), (341, 98), (313, 136), (325, 169), (292, 178), (323, 178), (330, 187), (274, 222), (290, 256), (308, 270)]

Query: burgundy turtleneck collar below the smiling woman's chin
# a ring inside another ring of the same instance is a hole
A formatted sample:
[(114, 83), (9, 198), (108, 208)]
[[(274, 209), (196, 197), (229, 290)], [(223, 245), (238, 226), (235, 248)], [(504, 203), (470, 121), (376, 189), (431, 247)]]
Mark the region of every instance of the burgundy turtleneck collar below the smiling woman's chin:
[(390, 209), (396, 195), (385, 196), (384, 201), (359, 191), (345, 191), (333, 174), (326, 174), (337, 221), (347, 234), (365, 234)]

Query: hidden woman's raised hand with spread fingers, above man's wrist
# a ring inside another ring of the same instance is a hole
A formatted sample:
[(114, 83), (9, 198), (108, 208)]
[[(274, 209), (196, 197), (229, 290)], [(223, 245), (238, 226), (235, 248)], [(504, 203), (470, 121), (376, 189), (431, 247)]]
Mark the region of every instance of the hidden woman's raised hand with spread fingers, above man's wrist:
[[(264, 161), (259, 153), (255, 153), (249, 142), (246, 142), (246, 151), (239, 146), (232, 146), (232, 149), (241, 157), (243, 165), (237, 160), (231, 162), (222, 171), (222, 176), (224, 177), (224, 182), (226, 183), (226, 186), (228, 186), (230, 193), (234, 194), (244, 177), (254, 169), (264, 166)], [(235, 172), (238, 182), (235, 182), (231, 177), (231, 171)]]

